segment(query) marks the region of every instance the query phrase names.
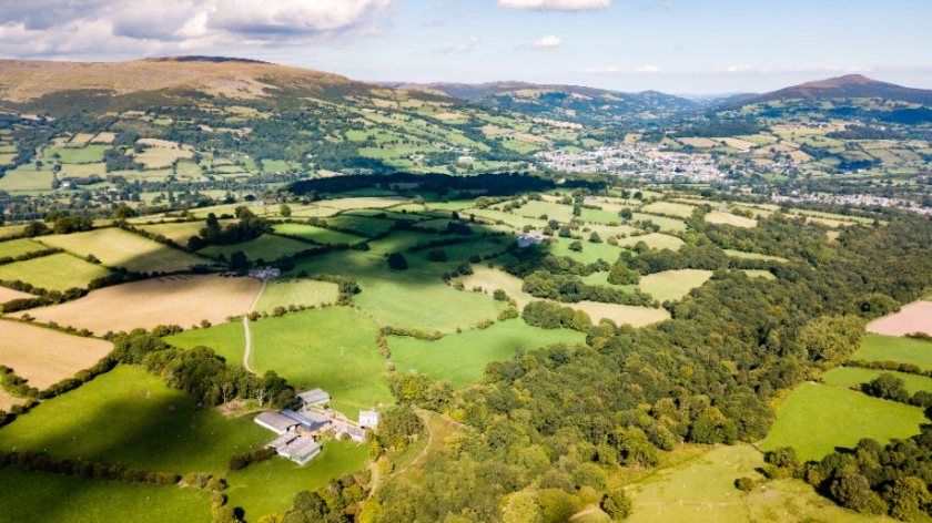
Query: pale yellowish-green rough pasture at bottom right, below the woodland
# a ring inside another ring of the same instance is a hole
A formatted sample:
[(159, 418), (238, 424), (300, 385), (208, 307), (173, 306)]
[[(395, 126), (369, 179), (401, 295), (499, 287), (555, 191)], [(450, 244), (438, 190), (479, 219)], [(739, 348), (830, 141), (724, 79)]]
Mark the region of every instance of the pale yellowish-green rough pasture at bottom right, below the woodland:
[(628, 491), (634, 513), (625, 521), (889, 521), (842, 509), (801, 480), (770, 481), (750, 493), (735, 488), (738, 478), (762, 480), (757, 471), (761, 465), (763, 457), (757, 449), (737, 444), (663, 468)]

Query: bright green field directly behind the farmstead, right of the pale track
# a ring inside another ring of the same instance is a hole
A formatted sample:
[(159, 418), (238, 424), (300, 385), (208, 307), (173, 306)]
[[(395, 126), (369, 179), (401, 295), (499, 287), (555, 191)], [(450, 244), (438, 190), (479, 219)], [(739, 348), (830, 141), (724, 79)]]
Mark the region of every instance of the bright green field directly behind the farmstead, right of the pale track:
[(365, 314), (326, 307), (262, 319), (250, 330), (250, 366), (257, 372), (274, 370), (301, 389), (320, 387), (347, 416), (393, 402), (377, 327)]

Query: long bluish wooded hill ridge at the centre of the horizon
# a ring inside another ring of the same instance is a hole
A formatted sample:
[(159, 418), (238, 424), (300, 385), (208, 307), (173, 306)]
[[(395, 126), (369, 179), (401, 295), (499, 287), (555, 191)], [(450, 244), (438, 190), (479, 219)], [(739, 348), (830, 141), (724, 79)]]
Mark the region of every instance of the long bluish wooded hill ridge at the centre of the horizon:
[(690, 100), (657, 91), (625, 93), (579, 85), (527, 82), (477, 84), (437, 82), (386, 85), (412, 91), (444, 93), (488, 107), (589, 125), (659, 120), (695, 111), (701, 106)]

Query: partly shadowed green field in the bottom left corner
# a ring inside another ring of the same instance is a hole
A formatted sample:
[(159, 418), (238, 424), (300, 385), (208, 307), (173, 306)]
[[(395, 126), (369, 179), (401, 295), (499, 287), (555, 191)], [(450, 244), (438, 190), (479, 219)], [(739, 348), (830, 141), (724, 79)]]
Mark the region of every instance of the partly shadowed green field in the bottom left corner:
[(0, 514), (18, 523), (119, 521), (149, 523), (158, 520), (195, 523), (210, 520), (205, 491), (119, 481), (0, 469)]

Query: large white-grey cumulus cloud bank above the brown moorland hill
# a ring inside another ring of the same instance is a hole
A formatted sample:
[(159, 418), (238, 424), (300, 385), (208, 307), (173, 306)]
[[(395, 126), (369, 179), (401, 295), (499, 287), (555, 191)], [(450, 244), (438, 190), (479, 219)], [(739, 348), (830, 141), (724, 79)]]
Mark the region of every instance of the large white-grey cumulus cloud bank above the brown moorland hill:
[(0, 53), (172, 52), (364, 32), (392, 0), (4, 0)]

